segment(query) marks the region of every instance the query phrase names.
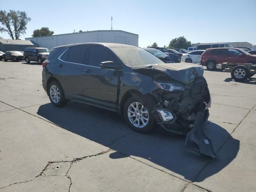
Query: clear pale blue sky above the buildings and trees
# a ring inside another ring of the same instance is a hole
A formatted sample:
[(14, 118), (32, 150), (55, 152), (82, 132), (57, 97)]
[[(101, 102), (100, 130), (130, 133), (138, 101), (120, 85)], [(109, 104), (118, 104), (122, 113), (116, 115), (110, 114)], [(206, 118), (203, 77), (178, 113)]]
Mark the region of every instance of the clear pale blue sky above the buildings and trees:
[(167, 46), (179, 36), (192, 43), (256, 44), (256, 0), (0, 0), (0, 9), (24, 10), (32, 18), (22, 39), (41, 27), (54, 34), (110, 30), (113, 16), (114, 30), (139, 34), (140, 47)]

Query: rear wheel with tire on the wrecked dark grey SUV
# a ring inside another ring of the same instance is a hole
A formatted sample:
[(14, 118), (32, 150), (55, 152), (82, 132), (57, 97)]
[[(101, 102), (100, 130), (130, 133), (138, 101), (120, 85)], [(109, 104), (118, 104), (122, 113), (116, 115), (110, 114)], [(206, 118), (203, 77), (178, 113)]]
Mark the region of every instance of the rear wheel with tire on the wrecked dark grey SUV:
[[(55, 94), (55, 97), (53, 94)], [(48, 86), (48, 96), (51, 103), (56, 107), (62, 107), (66, 104), (66, 99), (62, 87), (56, 81), (50, 82)]]

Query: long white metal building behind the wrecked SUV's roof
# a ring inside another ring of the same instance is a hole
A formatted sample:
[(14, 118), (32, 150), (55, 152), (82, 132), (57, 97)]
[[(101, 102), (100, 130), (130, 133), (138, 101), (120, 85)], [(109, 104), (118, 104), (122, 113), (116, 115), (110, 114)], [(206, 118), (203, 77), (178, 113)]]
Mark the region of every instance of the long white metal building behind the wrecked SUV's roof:
[(41, 47), (52, 49), (53, 47), (86, 42), (104, 42), (104, 43), (121, 43), (138, 46), (138, 34), (122, 30), (96, 30), (86, 32), (76, 32), (68, 34), (30, 37), (26, 40), (32, 41)]

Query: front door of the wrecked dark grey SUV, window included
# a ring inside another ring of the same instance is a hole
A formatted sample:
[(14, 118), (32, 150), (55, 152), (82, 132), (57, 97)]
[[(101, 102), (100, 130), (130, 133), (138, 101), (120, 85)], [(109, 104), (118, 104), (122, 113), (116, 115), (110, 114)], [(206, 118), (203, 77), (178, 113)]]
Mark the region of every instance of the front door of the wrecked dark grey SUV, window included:
[(108, 48), (100, 45), (91, 46), (83, 76), (84, 100), (116, 110), (120, 72), (100, 68), (100, 63), (104, 61), (117, 62), (116, 56)]

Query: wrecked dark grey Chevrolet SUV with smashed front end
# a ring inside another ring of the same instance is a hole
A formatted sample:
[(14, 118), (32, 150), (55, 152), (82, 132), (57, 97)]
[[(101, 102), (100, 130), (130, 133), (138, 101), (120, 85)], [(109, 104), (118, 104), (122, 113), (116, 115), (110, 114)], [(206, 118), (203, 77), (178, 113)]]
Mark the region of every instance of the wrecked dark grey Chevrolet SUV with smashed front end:
[(137, 132), (159, 125), (177, 134), (201, 133), (209, 116), (210, 93), (197, 64), (167, 64), (125, 44), (79, 43), (53, 48), (42, 67), (54, 106), (74, 100), (112, 110)]

